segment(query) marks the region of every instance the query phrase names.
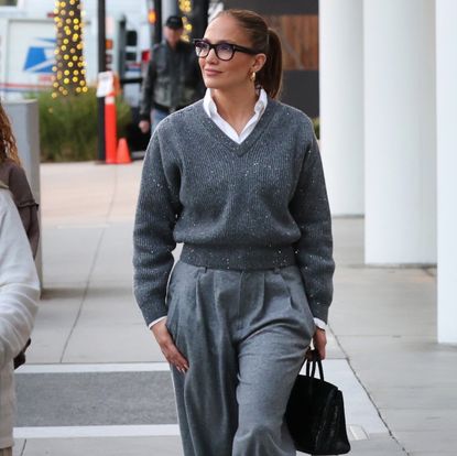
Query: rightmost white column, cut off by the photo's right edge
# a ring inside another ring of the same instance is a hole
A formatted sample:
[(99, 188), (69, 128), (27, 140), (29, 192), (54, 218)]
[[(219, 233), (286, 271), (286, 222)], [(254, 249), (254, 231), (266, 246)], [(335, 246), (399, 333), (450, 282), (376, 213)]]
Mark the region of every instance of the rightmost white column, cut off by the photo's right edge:
[(457, 2), (436, 0), (438, 341), (457, 344)]

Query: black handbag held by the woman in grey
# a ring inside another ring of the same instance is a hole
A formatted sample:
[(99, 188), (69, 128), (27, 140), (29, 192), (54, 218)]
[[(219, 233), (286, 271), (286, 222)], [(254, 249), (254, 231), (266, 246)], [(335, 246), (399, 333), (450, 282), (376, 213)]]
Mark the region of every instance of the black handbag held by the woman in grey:
[[(305, 362), (306, 376), (296, 378), (285, 412), (295, 447), (311, 455), (345, 455), (350, 452), (350, 444), (342, 393), (335, 384), (324, 381), (317, 351), (313, 350), (312, 360)], [(314, 377), (316, 365), (319, 379)]]

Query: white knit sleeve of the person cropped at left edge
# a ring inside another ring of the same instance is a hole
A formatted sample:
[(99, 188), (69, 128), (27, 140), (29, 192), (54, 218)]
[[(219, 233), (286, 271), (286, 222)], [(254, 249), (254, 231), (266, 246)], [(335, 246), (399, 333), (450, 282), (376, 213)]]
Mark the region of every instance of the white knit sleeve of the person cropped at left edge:
[(25, 346), (37, 311), (40, 282), (12, 198), (0, 191), (0, 368)]

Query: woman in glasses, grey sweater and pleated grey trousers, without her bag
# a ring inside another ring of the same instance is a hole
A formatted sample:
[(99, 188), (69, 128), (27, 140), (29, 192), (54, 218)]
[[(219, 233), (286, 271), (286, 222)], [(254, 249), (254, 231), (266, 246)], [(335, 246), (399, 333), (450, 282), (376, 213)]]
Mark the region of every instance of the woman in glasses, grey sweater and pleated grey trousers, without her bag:
[(281, 43), (261, 17), (224, 11), (194, 45), (207, 93), (148, 148), (135, 297), (172, 366), (185, 456), (295, 455), (284, 412), (312, 339), (325, 357), (333, 294), (319, 151), (275, 100)]

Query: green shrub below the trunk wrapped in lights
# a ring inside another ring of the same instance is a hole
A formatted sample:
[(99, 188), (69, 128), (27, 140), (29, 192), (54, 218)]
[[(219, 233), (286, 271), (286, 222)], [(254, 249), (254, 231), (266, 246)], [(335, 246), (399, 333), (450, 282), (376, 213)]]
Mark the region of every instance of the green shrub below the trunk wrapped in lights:
[[(40, 110), (41, 159), (44, 162), (95, 160), (97, 156), (97, 97), (87, 94), (52, 98), (50, 93), (35, 97)], [(34, 97), (34, 98), (35, 98)], [(118, 137), (131, 122), (130, 107), (116, 100)]]

